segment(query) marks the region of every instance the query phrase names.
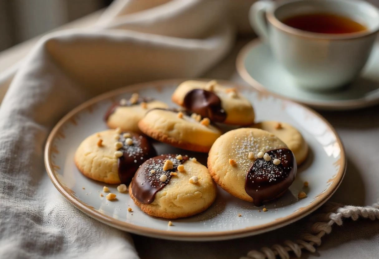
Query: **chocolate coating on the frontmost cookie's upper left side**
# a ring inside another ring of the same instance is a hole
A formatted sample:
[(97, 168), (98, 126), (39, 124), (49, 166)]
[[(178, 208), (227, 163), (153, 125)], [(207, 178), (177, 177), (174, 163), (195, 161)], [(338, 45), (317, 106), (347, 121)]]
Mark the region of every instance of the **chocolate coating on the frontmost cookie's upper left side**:
[[(176, 172), (178, 165), (188, 160), (188, 156), (183, 156), (182, 160), (176, 159), (175, 154), (163, 154), (150, 158), (144, 162), (137, 170), (132, 180), (132, 194), (143, 204), (150, 204), (155, 199), (155, 194), (166, 186), (171, 179), (171, 172)], [(164, 161), (170, 159), (174, 163), (174, 168), (163, 171)], [(155, 173), (150, 173), (154, 170)], [(167, 180), (162, 182), (159, 178), (162, 174), (167, 176)]]

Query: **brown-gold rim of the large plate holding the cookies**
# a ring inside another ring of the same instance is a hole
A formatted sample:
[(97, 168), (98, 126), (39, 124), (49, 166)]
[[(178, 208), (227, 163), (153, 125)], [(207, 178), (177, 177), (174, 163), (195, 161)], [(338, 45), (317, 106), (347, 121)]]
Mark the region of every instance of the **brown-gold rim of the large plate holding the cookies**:
[[(185, 232), (185, 231), (168, 231), (168, 230), (158, 230), (153, 229), (145, 226), (136, 226), (132, 223), (127, 223), (118, 219), (115, 219), (113, 217), (107, 216), (102, 214), (101, 212), (97, 211), (93, 207), (91, 207), (88, 204), (85, 204), (83, 201), (81, 201), (79, 198), (75, 197), (72, 192), (66, 189), (64, 184), (60, 183), (60, 180), (58, 179), (55, 169), (53, 167), (53, 163), (50, 160), (50, 154), (52, 153), (52, 141), (55, 139), (56, 135), (58, 134), (61, 126), (63, 126), (66, 122), (68, 122), (72, 117), (74, 117), (78, 112), (83, 111), (84, 109), (87, 109), (91, 105), (94, 105), (95, 103), (109, 99), (115, 95), (124, 94), (126, 92), (129, 92), (130, 88), (148, 88), (151, 85), (154, 87), (160, 86), (160, 85), (166, 85), (166, 84), (177, 84), (186, 80), (211, 80), (211, 79), (205, 79), (205, 78), (179, 78), (179, 79), (169, 79), (169, 80), (155, 80), (155, 81), (149, 81), (145, 83), (138, 83), (138, 84), (130, 84), (125, 87), (121, 87), (116, 90), (111, 90), (109, 92), (105, 92), (103, 94), (97, 95), (96, 97), (93, 97), (74, 109), (72, 109), (70, 112), (68, 112), (66, 115), (64, 115), (58, 123), (54, 126), (52, 131), (49, 134), (49, 137), (46, 140), (45, 149), (44, 149), (44, 163), (45, 168), (47, 171), (47, 174), (49, 175), (50, 180), (56, 187), (56, 189), (65, 197), (71, 204), (73, 204), (77, 209), (84, 212), (85, 214), (89, 215), (90, 217), (99, 220), (102, 223), (105, 223), (107, 225), (113, 226), (115, 228), (132, 232), (134, 234), (140, 234), (144, 236), (150, 236), (150, 237), (158, 237), (163, 239), (171, 239), (171, 240), (191, 240), (191, 241), (204, 241), (204, 240), (227, 240), (227, 239), (234, 239), (239, 237), (246, 237), (246, 236), (253, 236), (256, 234), (260, 234), (263, 232), (268, 232), (277, 228), (280, 228), (282, 226), (288, 225), (290, 223), (293, 223), (316, 209), (318, 209), (321, 205), (323, 205), (329, 198), (334, 194), (334, 192), (338, 189), (340, 186), (346, 172), (346, 156), (345, 156), (345, 149), (343, 147), (343, 144), (340, 140), (340, 137), (338, 136), (338, 133), (335, 131), (332, 125), (320, 114), (318, 114), (316, 111), (313, 111), (312, 109), (301, 105), (299, 103), (295, 103), (293, 101), (289, 101), (290, 103), (293, 103), (295, 105), (301, 106), (303, 109), (308, 110), (309, 112), (312, 112), (314, 115), (319, 117), (321, 120), (323, 120), (324, 123), (329, 127), (329, 129), (332, 131), (332, 133), (335, 135), (337, 143), (340, 147), (341, 153), (340, 153), (340, 159), (341, 159), (341, 166), (338, 172), (335, 175), (333, 183), (330, 185), (330, 187), (321, 195), (319, 194), (319, 198), (314, 201), (313, 203), (309, 204), (306, 207), (303, 207), (302, 209), (293, 212), (292, 214), (278, 218), (277, 220), (274, 220), (269, 223), (265, 223), (258, 226), (252, 226), (248, 228), (243, 229), (234, 229), (229, 231), (211, 231), (211, 232)], [(243, 84), (239, 84), (232, 81), (227, 80), (218, 80), (220, 82), (225, 82), (228, 84), (232, 84), (233, 86), (240, 87), (243, 89), (249, 89), (253, 90), (253, 88), (249, 86), (244, 86)], [(275, 97), (278, 98), (278, 97)], [(281, 100), (288, 101), (284, 98), (280, 98)]]

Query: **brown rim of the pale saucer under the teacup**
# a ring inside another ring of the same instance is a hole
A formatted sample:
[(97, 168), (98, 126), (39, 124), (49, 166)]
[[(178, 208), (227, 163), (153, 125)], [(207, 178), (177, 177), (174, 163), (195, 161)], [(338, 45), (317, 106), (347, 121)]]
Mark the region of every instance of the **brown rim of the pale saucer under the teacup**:
[(256, 81), (250, 74), (247, 72), (247, 69), (245, 67), (245, 60), (249, 52), (252, 50), (252, 48), (256, 47), (259, 44), (264, 44), (263, 41), (261, 41), (259, 38), (253, 39), (252, 41), (248, 42), (246, 45), (244, 45), (240, 52), (237, 55), (236, 58), (236, 70), (238, 74), (245, 80), (249, 85), (254, 87), (254, 89), (258, 90), (259, 92), (264, 92), (267, 94), (274, 95), (277, 98), (290, 100), (296, 103), (301, 103), (304, 105), (312, 106), (315, 109), (323, 109), (323, 110), (354, 110), (354, 109), (360, 109), (365, 107), (370, 107), (373, 105), (377, 105), (379, 103), (379, 98), (374, 98), (373, 100), (365, 100), (364, 98), (358, 98), (354, 100), (332, 100), (332, 101), (307, 101), (307, 100), (298, 100), (293, 99), (291, 97), (287, 97), (281, 94), (278, 94), (276, 92), (268, 90), (263, 84)]

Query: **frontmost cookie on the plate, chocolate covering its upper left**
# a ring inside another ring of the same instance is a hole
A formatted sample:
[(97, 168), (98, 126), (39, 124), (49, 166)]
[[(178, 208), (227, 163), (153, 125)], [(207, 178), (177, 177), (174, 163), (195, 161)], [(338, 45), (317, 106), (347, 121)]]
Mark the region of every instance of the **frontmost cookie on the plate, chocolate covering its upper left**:
[(129, 194), (150, 216), (181, 218), (207, 209), (216, 185), (207, 167), (181, 154), (150, 158), (137, 170)]

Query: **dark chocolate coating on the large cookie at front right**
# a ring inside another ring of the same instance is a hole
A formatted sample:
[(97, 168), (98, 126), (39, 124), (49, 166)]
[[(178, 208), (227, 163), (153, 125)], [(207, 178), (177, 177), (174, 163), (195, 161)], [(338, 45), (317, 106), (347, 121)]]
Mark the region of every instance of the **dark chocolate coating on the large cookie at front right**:
[[(245, 190), (253, 198), (255, 206), (261, 206), (263, 201), (276, 198), (291, 186), (295, 180), (297, 164), (291, 150), (280, 148), (267, 151), (271, 161), (258, 158), (246, 174)], [(279, 165), (273, 160), (279, 159)]]

